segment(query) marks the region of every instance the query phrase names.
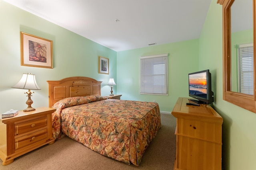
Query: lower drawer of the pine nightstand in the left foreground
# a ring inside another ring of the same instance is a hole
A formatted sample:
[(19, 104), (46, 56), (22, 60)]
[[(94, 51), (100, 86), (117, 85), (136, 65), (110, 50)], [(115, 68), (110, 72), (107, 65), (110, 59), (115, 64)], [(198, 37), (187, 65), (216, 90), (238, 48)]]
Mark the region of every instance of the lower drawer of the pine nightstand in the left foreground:
[(26, 147), (37, 141), (47, 138), (47, 129), (43, 129), (15, 139), (15, 150)]

